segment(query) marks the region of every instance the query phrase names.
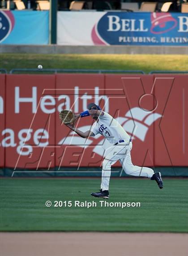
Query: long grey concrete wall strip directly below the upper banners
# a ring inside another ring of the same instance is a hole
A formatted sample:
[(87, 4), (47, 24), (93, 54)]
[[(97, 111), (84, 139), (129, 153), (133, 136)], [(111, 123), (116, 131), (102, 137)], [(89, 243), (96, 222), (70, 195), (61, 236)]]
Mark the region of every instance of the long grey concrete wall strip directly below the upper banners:
[(31, 54), (188, 54), (186, 46), (0, 45), (0, 53)]

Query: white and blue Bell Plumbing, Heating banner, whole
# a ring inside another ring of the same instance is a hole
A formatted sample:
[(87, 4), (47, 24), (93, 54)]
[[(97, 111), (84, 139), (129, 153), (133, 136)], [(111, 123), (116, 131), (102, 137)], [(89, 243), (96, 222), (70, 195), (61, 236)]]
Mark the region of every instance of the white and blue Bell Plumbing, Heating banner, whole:
[(188, 13), (58, 12), (57, 43), (186, 46)]

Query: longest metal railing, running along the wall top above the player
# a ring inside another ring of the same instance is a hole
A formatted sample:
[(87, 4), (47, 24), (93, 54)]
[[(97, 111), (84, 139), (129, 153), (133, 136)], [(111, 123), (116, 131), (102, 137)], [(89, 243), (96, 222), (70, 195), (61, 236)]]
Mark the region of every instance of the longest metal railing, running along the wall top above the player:
[(107, 69), (53, 69), (53, 68), (47, 68), (47, 69), (37, 69), (37, 68), (14, 68), (10, 70), (10, 74), (14, 74), (17, 72), (37, 72), (37, 73), (43, 73), (43, 72), (53, 72), (55, 74), (57, 73), (141, 73), (145, 74), (142, 70), (107, 70)]

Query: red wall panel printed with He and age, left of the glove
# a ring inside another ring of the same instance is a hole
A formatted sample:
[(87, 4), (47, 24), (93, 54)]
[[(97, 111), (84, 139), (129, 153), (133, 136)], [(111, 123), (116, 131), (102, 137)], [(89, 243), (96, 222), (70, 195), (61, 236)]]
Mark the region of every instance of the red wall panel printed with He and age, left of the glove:
[[(55, 75), (8, 75), (6, 79), (5, 166), (55, 166)], [(53, 92), (51, 92), (53, 95)]]

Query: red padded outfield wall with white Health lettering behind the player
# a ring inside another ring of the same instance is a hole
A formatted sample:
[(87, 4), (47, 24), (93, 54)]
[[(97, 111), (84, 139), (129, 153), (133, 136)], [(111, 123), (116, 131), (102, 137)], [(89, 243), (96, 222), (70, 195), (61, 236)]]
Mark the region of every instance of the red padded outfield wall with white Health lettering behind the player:
[[(134, 164), (188, 166), (187, 75), (57, 74), (0, 75), (0, 167), (100, 166), (107, 141), (83, 139), (58, 117), (90, 102), (133, 136)], [(78, 122), (91, 125), (90, 117)]]

